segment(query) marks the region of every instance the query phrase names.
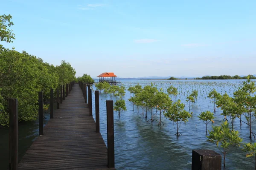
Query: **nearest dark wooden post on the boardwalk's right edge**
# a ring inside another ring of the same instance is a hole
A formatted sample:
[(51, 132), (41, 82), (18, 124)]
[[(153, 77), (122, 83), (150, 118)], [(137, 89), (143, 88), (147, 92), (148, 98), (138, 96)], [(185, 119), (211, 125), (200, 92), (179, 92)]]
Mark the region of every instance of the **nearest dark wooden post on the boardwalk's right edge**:
[(113, 100), (107, 100), (108, 168), (115, 167)]

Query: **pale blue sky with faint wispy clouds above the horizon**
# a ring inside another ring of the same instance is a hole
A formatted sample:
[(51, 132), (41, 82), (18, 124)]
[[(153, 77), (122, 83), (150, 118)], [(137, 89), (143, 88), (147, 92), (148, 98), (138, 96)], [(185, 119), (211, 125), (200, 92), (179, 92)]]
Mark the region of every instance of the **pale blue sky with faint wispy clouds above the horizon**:
[(256, 74), (255, 0), (5, 0), (15, 47), (77, 76)]

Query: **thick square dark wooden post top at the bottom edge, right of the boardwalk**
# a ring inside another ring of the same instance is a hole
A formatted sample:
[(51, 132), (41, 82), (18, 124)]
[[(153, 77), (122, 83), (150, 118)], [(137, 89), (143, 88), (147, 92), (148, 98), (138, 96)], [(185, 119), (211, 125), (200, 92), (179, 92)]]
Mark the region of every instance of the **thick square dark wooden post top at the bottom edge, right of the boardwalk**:
[(221, 170), (221, 155), (213, 150), (192, 150), (192, 170)]

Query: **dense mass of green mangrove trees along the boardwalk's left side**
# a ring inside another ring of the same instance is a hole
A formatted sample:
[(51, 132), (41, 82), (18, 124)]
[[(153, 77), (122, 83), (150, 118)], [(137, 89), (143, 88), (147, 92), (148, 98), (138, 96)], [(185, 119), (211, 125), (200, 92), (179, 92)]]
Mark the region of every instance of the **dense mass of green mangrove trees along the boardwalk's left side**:
[(59, 84), (56, 68), (41, 58), (25, 51), (0, 51), (0, 125), (8, 125), (9, 98), (18, 99), (19, 121), (36, 120), (38, 92), (43, 91), (44, 100), (49, 99), (50, 89), (58, 88)]

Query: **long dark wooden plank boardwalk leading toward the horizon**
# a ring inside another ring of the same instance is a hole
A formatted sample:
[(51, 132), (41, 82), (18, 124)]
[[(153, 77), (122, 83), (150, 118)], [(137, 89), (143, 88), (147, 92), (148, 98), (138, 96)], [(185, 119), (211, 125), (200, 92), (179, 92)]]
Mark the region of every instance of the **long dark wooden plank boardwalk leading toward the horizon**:
[[(53, 112), (18, 164), (19, 170), (107, 170), (107, 147), (78, 84)], [(112, 169), (113, 170), (113, 169)]]

